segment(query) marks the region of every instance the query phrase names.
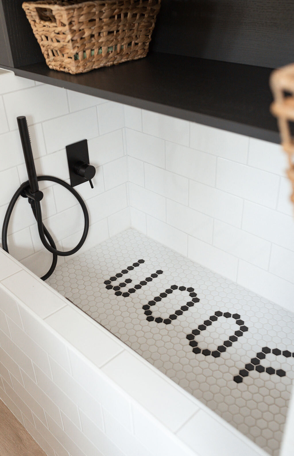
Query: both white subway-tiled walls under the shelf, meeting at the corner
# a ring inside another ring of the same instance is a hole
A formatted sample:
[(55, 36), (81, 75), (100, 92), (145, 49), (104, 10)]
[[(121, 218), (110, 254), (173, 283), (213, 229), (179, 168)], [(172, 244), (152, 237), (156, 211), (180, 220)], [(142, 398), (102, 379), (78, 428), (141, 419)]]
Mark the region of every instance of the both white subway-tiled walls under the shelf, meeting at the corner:
[[(9, 183), (0, 194), (0, 224), (12, 194), (27, 179), (15, 122), (25, 114), (37, 173), (69, 182), (65, 145), (88, 139), (95, 189), (87, 183), (77, 187), (90, 212), (87, 248), (133, 226), (294, 310), (285, 288), (280, 290), (281, 284), (291, 290), (294, 283), (287, 266), (294, 251), (294, 220), (279, 145), (13, 73), (0, 78), (0, 178)], [(44, 221), (57, 245), (70, 249), (81, 235), (80, 208), (57, 184), (41, 182), (40, 188), (46, 189)], [(9, 247), (41, 275), (50, 255), (27, 206), (24, 199), (15, 206)], [(256, 268), (270, 291), (254, 276)]]

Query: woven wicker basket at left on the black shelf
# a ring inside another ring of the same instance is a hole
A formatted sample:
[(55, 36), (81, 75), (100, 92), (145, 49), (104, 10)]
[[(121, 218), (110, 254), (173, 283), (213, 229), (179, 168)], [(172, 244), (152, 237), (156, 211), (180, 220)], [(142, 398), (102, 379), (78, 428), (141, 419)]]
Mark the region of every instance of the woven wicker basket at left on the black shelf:
[(161, 0), (23, 3), (47, 65), (86, 73), (146, 57)]

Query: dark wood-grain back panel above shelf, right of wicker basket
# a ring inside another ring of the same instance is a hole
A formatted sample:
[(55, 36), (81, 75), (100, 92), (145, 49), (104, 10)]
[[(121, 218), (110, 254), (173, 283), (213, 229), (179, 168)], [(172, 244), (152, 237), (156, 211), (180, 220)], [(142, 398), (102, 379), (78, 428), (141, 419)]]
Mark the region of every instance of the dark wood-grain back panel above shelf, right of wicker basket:
[(294, 1), (162, 0), (152, 49), (269, 68), (294, 62)]

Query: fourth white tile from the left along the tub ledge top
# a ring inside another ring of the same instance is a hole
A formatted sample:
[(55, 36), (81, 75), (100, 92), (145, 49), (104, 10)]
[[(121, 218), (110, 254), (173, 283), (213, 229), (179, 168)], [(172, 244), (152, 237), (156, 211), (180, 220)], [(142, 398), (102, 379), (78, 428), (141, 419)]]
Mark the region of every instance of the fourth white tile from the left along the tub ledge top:
[(109, 361), (102, 370), (172, 431), (177, 430), (198, 409), (154, 368), (126, 351)]

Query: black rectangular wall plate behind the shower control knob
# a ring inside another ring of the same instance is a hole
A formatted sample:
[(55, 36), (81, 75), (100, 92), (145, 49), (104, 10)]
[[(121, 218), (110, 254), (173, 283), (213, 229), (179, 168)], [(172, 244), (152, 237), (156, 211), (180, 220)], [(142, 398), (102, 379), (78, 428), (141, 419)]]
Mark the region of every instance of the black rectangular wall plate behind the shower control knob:
[(87, 140), (81, 140), (66, 146), (68, 169), (70, 172), (71, 187), (76, 187), (87, 182), (85, 177), (76, 174), (75, 167), (78, 162), (89, 163), (89, 152)]

